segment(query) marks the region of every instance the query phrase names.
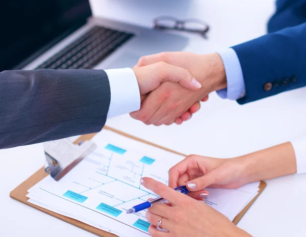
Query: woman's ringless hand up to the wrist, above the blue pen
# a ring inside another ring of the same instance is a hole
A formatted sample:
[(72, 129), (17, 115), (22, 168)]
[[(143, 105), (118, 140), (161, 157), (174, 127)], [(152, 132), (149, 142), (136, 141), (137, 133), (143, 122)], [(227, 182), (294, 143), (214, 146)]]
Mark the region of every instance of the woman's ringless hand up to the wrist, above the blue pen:
[(189, 155), (169, 170), (169, 186), (186, 185), (190, 191), (206, 187), (237, 189), (250, 182), (243, 157), (217, 159)]

